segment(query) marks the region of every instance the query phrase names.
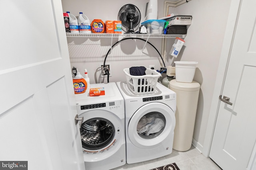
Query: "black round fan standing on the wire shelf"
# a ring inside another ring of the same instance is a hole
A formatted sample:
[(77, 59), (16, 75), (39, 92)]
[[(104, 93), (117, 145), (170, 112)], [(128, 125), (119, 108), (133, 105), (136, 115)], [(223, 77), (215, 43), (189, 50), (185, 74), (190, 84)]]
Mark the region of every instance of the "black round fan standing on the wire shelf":
[[(129, 18), (131, 15), (134, 15), (132, 20)], [(130, 29), (130, 22), (132, 22), (133, 29), (137, 30), (141, 19), (140, 10), (133, 4), (126, 4), (120, 8), (117, 18), (119, 21), (122, 21), (122, 29), (124, 31), (128, 31)]]

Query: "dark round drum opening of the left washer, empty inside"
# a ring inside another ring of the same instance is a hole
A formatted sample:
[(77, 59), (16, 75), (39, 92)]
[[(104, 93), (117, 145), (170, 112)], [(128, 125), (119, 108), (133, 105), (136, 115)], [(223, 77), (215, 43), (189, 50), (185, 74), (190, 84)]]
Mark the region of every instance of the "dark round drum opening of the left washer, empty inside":
[(97, 150), (106, 147), (114, 138), (114, 125), (103, 118), (85, 121), (80, 128), (84, 149)]

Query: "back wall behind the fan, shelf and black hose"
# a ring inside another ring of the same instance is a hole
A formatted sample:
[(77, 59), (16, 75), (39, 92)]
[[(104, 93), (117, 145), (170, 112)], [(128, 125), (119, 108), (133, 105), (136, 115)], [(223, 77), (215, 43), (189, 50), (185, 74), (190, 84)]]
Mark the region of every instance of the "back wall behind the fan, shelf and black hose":
[[(106, 21), (117, 20), (118, 12), (122, 6), (125, 4), (134, 4), (140, 10), (142, 22), (145, 18), (147, 2), (148, 0), (131, 0), (129, 2), (108, 0), (101, 1), (100, 5), (98, 5), (93, 1), (62, 0), (62, 6), (64, 12), (70, 11), (70, 13), (75, 16), (78, 16), (79, 12), (83, 12), (90, 21), (94, 19)], [(159, 8), (163, 8), (163, 6), (163, 3), (159, 3)], [(163, 15), (162, 10), (159, 10), (159, 13)], [(104, 58), (111, 45), (118, 40), (120, 39), (68, 37), (71, 67), (77, 67), (80, 72), (83, 72), (84, 68), (87, 68), (90, 82), (95, 83), (94, 72), (96, 68), (104, 63)], [(161, 53), (161, 38), (151, 38), (148, 41), (156, 46)], [(112, 49), (112, 53), (109, 54), (106, 59), (106, 64), (110, 64), (110, 71), (112, 73), (110, 82), (126, 81), (123, 69), (130, 68), (131, 66), (148, 67), (149, 65), (155, 65), (156, 69), (160, 69), (161, 59), (157, 51), (149, 44), (146, 44), (146, 48), (142, 51), (144, 44), (145, 42), (142, 40), (130, 39), (118, 43)], [(97, 72), (97, 77), (98, 76), (99, 72)]]

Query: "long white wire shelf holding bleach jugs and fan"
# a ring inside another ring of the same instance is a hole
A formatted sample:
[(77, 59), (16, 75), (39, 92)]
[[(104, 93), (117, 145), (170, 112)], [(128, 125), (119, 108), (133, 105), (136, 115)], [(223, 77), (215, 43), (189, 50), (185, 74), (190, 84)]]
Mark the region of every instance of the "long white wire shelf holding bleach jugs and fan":
[(138, 38), (185, 38), (186, 34), (117, 34), (117, 33), (66, 33), (67, 37), (138, 37)]

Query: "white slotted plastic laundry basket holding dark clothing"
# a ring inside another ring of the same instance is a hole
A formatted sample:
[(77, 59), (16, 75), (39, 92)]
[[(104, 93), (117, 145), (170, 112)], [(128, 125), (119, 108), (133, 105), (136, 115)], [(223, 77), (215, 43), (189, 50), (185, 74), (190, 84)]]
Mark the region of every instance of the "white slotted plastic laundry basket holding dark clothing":
[(156, 70), (146, 68), (146, 75), (132, 76), (130, 75), (130, 68), (124, 68), (128, 88), (134, 94), (149, 94), (154, 93), (158, 77), (161, 76)]

